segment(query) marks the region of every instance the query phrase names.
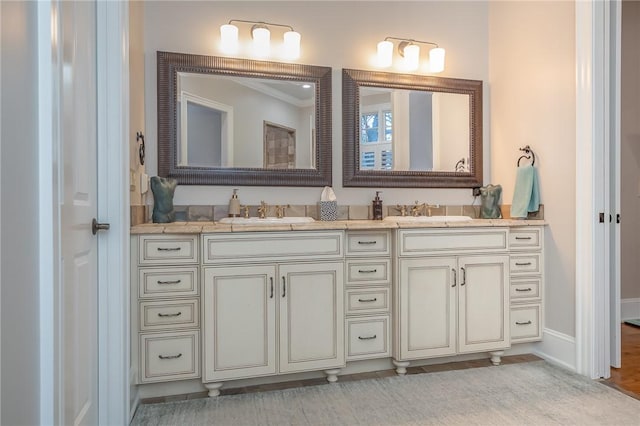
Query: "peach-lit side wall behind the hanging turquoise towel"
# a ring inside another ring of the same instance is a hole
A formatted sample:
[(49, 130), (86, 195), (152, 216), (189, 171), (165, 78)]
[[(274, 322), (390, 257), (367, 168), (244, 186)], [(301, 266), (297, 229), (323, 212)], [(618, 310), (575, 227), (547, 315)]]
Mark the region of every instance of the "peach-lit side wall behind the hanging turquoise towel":
[(519, 147), (536, 154), (545, 234), (545, 327), (575, 336), (575, 4), (489, 6), (491, 173), (511, 204)]

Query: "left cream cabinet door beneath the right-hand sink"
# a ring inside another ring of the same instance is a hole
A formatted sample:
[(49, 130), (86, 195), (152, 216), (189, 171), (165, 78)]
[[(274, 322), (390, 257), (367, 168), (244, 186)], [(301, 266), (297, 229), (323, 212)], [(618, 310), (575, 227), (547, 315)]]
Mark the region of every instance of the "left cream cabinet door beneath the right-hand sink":
[(400, 359), (455, 354), (455, 257), (401, 259), (399, 264)]

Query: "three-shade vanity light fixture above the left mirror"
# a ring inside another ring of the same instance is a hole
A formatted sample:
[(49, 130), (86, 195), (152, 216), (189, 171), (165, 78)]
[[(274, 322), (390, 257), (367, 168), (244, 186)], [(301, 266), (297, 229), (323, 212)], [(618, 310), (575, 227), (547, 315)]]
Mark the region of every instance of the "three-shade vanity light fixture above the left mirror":
[(220, 50), (227, 54), (236, 54), (239, 50), (237, 23), (251, 24), (251, 37), (253, 38), (253, 54), (265, 58), (271, 54), (271, 31), (269, 27), (286, 28), (283, 35), (282, 56), (285, 59), (298, 59), (300, 57), (300, 33), (294, 31), (291, 25), (274, 24), (271, 22), (245, 21), (232, 19), (228, 24), (220, 27)]

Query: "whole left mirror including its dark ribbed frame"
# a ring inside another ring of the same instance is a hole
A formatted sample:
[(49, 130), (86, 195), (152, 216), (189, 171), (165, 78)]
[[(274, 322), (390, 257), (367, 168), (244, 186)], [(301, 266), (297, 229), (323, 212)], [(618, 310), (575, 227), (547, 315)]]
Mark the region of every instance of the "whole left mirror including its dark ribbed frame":
[(331, 68), (158, 52), (158, 175), (331, 185)]

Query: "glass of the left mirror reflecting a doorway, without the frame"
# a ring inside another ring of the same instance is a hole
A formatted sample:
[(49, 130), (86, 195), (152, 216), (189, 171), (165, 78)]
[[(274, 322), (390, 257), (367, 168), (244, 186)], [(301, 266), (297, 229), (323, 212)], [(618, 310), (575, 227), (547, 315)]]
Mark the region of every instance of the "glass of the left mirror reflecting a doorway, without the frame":
[(315, 168), (315, 84), (179, 72), (178, 165)]

